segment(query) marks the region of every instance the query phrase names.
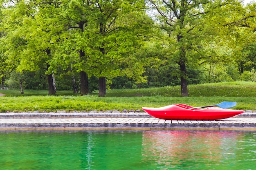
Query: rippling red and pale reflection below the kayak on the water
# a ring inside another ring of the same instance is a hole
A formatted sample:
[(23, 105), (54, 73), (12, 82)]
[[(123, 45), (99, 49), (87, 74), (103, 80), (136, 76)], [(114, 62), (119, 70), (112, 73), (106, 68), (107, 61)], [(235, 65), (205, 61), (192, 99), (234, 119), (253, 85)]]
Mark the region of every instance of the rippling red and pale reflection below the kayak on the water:
[[(144, 131), (142, 157), (157, 169), (234, 169), (237, 161), (245, 161), (240, 151), (244, 156), (247, 151), (239, 145), (245, 139), (244, 132), (239, 131)], [(252, 146), (255, 151), (255, 139)], [(255, 158), (254, 151), (251, 156)]]

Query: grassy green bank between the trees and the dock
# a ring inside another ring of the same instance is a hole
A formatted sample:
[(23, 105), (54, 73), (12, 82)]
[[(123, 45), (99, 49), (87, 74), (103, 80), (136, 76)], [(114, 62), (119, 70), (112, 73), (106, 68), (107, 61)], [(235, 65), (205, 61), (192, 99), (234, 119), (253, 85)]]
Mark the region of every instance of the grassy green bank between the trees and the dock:
[(106, 97), (97, 97), (97, 93), (79, 96), (72, 91), (58, 91), (56, 96), (48, 96), (47, 91), (25, 90), (25, 94), (21, 95), (20, 91), (0, 90), (5, 94), (0, 97), (0, 112), (122, 111), (174, 103), (205, 106), (223, 101), (236, 101), (237, 106), (232, 109), (256, 110), (256, 83), (253, 82), (190, 85), (188, 89), (190, 97), (180, 97), (180, 86), (110, 90)]

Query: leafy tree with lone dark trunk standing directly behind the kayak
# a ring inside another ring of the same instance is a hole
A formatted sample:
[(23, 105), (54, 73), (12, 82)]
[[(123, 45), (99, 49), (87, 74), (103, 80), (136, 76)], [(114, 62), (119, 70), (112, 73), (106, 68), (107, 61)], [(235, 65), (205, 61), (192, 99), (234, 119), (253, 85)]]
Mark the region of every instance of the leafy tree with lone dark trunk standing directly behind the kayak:
[[(166, 32), (166, 46), (169, 60), (180, 66), (181, 96), (189, 95), (187, 69), (202, 58), (202, 43), (214, 35), (213, 29), (205, 27), (211, 17), (220, 17), (223, 6), (233, 3), (221, 0), (148, 0), (150, 7), (157, 11), (157, 24)], [(213, 23), (216, 24), (216, 23)], [(221, 25), (221, 24), (219, 24)], [(206, 57), (206, 55), (204, 55)]]

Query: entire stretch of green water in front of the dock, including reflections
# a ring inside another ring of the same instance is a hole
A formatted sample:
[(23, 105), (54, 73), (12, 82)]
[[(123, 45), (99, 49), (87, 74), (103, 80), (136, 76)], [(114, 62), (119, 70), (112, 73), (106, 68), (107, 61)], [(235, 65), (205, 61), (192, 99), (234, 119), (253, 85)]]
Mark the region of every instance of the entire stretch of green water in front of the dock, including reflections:
[(256, 131), (0, 131), (1, 170), (256, 170)]

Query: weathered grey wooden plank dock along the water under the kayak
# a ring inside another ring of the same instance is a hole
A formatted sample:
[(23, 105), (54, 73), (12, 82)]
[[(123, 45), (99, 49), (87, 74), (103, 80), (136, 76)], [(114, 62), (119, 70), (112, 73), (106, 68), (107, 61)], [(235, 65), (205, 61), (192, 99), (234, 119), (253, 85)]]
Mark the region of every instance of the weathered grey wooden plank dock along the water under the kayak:
[(0, 113), (0, 129), (255, 129), (256, 113), (214, 120), (164, 120), (147, 113)]

